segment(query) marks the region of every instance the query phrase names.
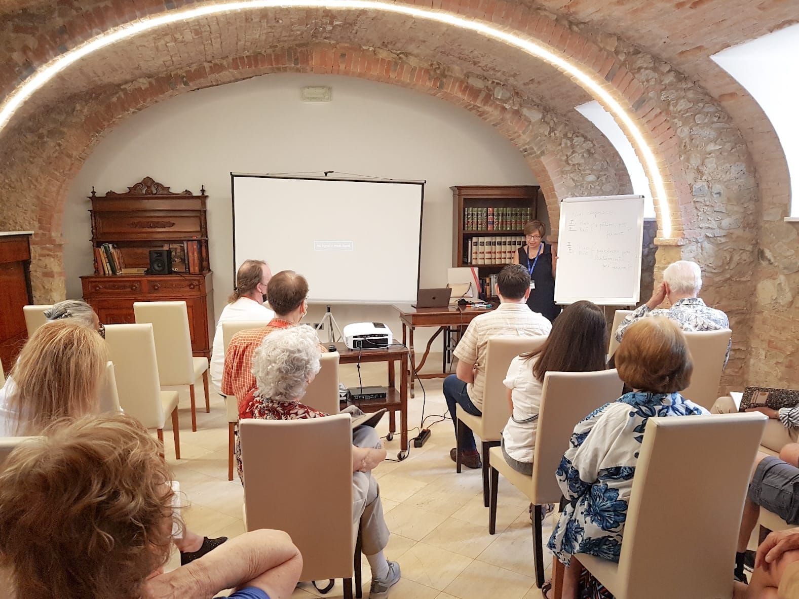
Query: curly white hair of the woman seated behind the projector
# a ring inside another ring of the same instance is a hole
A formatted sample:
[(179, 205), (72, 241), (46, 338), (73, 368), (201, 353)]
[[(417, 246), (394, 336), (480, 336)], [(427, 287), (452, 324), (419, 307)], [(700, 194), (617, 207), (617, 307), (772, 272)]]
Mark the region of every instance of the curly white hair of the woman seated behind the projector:
[(252, 357), (252, 375), (262, 397), (298, 401), (321, 367), (319, 338), (307, 324), (273, 331)]

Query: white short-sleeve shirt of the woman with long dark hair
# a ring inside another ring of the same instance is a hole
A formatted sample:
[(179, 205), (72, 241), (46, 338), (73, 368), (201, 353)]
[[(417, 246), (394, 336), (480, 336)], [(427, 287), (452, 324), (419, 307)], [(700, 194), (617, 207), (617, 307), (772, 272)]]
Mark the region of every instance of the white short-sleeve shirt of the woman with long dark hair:
[(538, 357), (524, 359), (517, 355), (511, 360), (505, 387), (511, 390), (513, 413), (503, 430), (505, 451), (517, 462), (531, 463), (535, 450), (535, 433), (539, 426), (542, 385), (533, 375)]

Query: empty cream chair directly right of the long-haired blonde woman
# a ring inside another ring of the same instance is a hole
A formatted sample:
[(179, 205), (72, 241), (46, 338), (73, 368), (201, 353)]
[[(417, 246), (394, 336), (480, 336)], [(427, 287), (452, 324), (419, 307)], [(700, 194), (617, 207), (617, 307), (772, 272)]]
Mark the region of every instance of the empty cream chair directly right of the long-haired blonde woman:
[(118, 399), (125, 414), (145, 428), (154, 428), (164, 442), (166, 417), (172, 415), (175, 458), (181, 458), (181, 430), (177, 419), (177, 391), (161, 391), (155, 355), (153, 325), (106, 324), (108, 343), (117, 383)]

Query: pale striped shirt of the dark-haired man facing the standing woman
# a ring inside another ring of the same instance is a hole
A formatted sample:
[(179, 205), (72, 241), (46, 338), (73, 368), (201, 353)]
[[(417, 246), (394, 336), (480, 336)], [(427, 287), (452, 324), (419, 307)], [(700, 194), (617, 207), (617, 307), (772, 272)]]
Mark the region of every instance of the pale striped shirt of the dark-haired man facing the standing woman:
[(536, 337), (549, 335), (551, 330), (552, 323), (538, 312), (532, 311), (527, 303), (500, 303), (496, 310), (475, 316), (463, 333), (458, 347), (455, 347), (457, 359), (478, 365), (475, 382), (466, 386), (471, 403), (474, 403), (479, 410), (483, 409), (483, 391), (486, 383), (484, 364), (488, 339), (506, 335)]

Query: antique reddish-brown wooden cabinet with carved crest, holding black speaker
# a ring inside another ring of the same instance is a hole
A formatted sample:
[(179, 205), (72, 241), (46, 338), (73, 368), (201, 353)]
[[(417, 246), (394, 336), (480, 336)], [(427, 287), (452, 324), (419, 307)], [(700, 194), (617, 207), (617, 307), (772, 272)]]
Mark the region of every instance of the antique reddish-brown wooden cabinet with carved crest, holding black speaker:
[[(127, 192), (97, 196), (92, 189), (92, 245), (113, 244), (125, 268), (122, 274), (81, 276), (83, 299), (90, 303), (101, 323), (133, 323), (133, 302), (185, 301), (194, 355), (211, 356), (213, 339), (213, 281), (208, 260), (207, 200), (189, 190), (171, 192), (169, 187), (145, 177)], [(150, 275), (149, 250), (184, 248), (196, 242), (201, 272)]]

